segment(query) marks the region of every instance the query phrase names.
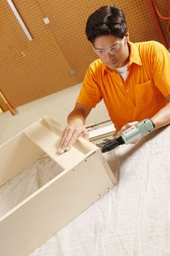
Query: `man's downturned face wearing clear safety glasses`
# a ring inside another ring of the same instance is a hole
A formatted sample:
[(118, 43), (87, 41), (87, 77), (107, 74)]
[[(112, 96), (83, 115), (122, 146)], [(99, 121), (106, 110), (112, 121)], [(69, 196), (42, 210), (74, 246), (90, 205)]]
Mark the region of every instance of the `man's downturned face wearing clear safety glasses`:
[(110, 69), (125, 66), (129, 60), (128, 34), (117, 38), (114, 35), (102, 35), (94, 40), (94, 51)]

